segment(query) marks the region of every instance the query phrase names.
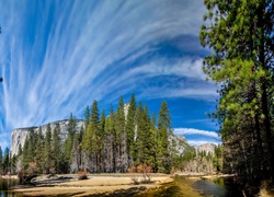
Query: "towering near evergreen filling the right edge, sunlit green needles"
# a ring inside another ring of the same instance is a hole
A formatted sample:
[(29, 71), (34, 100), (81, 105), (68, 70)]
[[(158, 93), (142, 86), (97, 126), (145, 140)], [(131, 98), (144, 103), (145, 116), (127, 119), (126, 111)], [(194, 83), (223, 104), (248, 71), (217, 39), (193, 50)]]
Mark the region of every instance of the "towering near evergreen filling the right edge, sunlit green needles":
[(221, 84), (214, 117), (229, 150), (226, 161), (251, 182), (274, 179), (274, 4), (270, 0), (204, 2), (208, 10), (204, 20), (210, 23), (202, 26), (201, 43), (214, 50), (204, 60), (204, 71)]

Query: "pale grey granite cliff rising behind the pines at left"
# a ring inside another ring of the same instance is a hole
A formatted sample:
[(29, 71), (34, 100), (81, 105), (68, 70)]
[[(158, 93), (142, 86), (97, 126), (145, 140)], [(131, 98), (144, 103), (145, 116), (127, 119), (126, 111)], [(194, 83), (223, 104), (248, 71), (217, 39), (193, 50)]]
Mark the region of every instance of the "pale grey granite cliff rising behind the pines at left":
[[(61, 129), (60, 138), (61, 138), (61, 141), (64, 142), (65, 139), (67, 138), (67, 135), (68, 135), (69, 119), (49, 123), (50, 128), (52, 128), (52, 134), (54, 132), (54, 129), (58, 123), (59, 123), (60, 129)], [(43, 125), (41, 127), (42, 127), (42, 134), (44, 136), (46, 136), (47, 124)], [(76, 120), (76, 132), (80, 132), (81, 127), (84, 127), (84, 121), (77, 119)], [(39, 130), (39, 127), (18, 128), (18, 129), (12, 130), (12, 132), (11, 132), (11, 154), (12, 155), (14, 155), (14, 154), (16, 155), (19, 153), (20, 146), (23, 149), (25, 140), (27, 139), (32, 129), (34, 130), (34, 132), (37, 134)]]

